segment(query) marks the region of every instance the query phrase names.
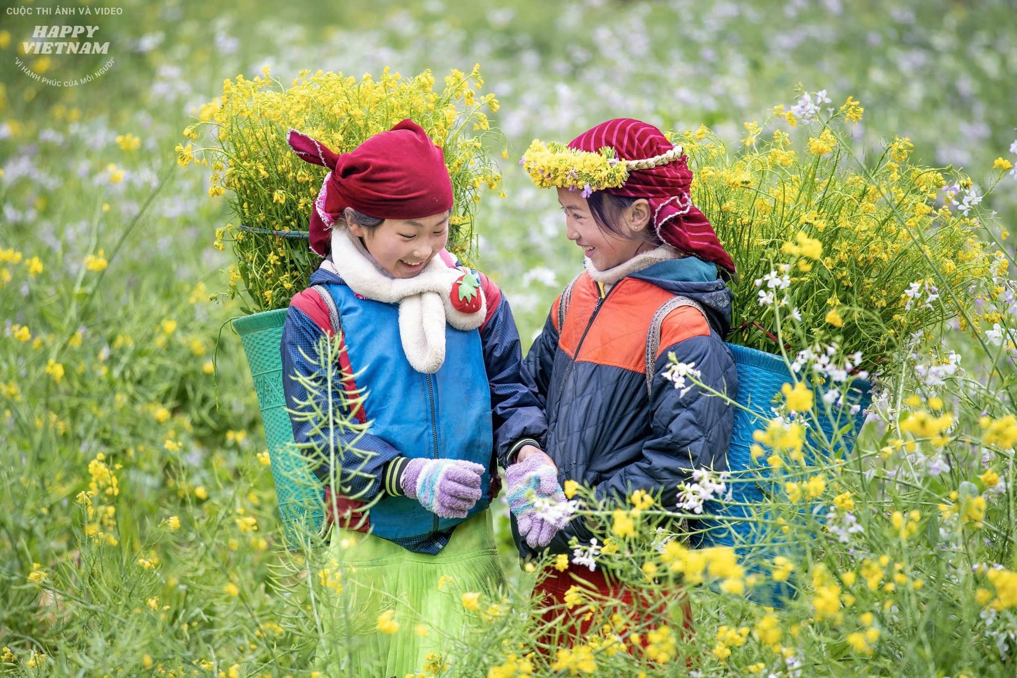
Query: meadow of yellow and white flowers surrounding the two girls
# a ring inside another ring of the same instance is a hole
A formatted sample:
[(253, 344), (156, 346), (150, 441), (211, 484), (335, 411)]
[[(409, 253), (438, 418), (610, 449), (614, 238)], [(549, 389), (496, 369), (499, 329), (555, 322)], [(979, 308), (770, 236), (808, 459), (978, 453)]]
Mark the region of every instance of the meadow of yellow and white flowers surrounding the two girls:
[[(5, 674), (370, 676), (347, 650), (400, 626), (442, 638), (423, 676), (1017, 671), (1008, 3), (131, 0), (78, 21), (108, 54), (73, 56), (26, 53), (36, 25), (74, 22), (40, 4), (0, 27)], [(520, 167), (531, 142), (613, 117), (667, 130), (739, 270), (728, 341), (789, 370), (746, 411), (752, 468), (698, 473), (671, 506), (566, 485), (598, 542), (549, 564), (644, 599), (571, 591), (588, 629), (569, 642), (534, 612), (501, 500), (502, 595), (440, 584), (462, 628), (365, 618), (313, 536), (283, 538), (230, 325), (285, 308), (316, 263), (284, 232), (323, 172), (282, 135), (342, 148), (405, 115), (464, 159), (453, 242), (525, 346), (582, 266)], [(752, 543), (711, 541), (739, 487), (763, 497)]]

